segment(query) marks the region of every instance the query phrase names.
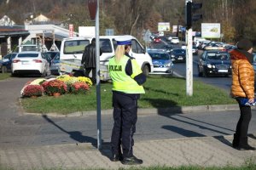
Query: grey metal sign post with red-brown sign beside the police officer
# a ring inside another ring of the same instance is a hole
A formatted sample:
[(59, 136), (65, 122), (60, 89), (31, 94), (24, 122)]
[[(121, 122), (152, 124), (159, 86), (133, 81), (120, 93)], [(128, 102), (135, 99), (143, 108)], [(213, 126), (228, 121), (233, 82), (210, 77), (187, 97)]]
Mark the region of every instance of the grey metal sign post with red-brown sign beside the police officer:
[(102, 149), (102, 113), (101, 113), (101, 80), (100, 80), (100, 29), (99, 0), (88, 0), (90, 19), (96, 20), (96, 103), (97, 103), (97, 148)]

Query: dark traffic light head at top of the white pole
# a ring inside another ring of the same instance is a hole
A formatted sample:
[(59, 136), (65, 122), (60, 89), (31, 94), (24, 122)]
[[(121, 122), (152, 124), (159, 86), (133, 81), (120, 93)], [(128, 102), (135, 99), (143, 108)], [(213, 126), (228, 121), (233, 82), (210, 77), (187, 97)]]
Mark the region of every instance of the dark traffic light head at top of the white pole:
[(202, 14), (195, 14), (196, 10), (200, 8), (202, 8), (202, 3), (192, 3), (191, 0), (187, 0), (185, 12), (187, 29), (192, 27), (193, 21), (202, 19)]

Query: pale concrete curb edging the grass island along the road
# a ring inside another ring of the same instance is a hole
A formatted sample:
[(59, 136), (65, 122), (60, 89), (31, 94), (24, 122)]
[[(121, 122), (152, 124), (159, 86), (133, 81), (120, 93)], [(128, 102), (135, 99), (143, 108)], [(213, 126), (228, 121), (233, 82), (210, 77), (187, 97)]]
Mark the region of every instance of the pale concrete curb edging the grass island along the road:
[[(255, 110), (255, 107), (252, 107)], [(58, 113), (26, 113), (23, 108), (21, 109), (24, 115), (47, 115), (47, 116), (96, 116), (96, 111), (77, 111), (67, 115), (60, 115)], [(174, 114), (187, 114), (195, 112), (214, 112), (214, 111), (240, 111), (238, 105), (196, 105), (196, 106), (175, 106), (170, 108), (146, 108), (138, 109), (139, 116), (154, 116), (154, 115), (174, 115)], [(113, 114), (113, 110), (102, 110), (102, 116), (109, 116)]]

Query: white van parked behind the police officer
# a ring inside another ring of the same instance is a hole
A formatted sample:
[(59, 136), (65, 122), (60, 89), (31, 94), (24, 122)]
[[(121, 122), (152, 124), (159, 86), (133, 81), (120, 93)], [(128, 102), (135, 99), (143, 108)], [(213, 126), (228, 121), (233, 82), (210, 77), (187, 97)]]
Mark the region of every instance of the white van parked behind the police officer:
[[(115, 38), (119, 36), (101, 36), (100, 48), (102, 55), (100, 57), (100, 65), (108, 65), (108, 60), (113, 57), (114, 50), (117, 47)], [(77, 65), (81, 62), (84, 53), (84, 47), (90, 44), (92, 37), (70, 37), (64, 38), (61, 42), (60, 59), (61, 61), (73, 61)], [(145, 51), (140, 42), (135, 37), (131, 40), (131, 57), (137, 59), (137, 63), (141, 65), (142, 71), (145, 75), (153, 72), (154, 67), (152, 59)]]

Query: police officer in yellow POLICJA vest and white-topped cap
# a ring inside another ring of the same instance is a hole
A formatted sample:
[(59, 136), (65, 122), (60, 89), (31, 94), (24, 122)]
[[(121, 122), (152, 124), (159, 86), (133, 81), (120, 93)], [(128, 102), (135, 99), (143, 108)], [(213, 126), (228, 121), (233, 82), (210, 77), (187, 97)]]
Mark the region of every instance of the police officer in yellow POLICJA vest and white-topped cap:
[(112, 161), (123, 164), (142, 164), (143, 160), (133, 155), (133, 133), (136, 131), (137, 99), (145, 94), (142, 84), (146, 82), (136, 59), (129, 55), (131, 36), (120, 36), (115, 55), (109, 59), (108, 71), (113, 81), (113, 131)]

